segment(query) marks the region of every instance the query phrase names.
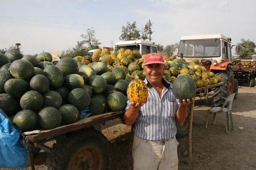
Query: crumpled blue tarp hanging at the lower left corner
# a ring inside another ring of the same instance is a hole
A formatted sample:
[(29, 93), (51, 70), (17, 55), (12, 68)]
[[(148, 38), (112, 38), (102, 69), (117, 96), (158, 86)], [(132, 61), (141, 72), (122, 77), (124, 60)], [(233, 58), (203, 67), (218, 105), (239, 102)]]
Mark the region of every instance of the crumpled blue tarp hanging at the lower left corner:
[(0, 167), (25, 168), (28, 151), (20, 140), (20, 133), (0, 111)]

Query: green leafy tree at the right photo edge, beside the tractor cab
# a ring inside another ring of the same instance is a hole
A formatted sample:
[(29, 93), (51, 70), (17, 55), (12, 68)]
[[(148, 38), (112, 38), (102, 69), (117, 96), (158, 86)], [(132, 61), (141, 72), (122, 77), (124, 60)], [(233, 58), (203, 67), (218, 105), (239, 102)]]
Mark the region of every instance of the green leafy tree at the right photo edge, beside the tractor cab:
[(240, 46), (240, 51), (237, 53), (237, 55), (240, 57), (252, 56), (255, 53), (255, 43), (250, 41), (250, 39), (244, 40), (242, 38), (241, 41), (241, 43), (237, 43), (237, 45)]

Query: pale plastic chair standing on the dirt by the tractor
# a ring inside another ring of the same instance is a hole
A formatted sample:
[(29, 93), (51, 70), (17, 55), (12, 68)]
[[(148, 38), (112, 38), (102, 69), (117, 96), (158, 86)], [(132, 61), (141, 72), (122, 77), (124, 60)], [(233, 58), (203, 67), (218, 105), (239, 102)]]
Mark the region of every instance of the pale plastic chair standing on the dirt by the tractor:
[(230, 96), (228, 96), (228, 98), (226, 98), (222, 107), (212, 107), (212, 108), (210, 108), (210, 110), (207, 113), (205, 129), (207, 128), (207, 125), (208, 125), (210, 113), (214, 113), (214, 115), (213, 115), (213, 124), (215, 125), (216, 113), (224, 112), (224, 113), (226, 113), (226, 132), (227, 133), (230, 132), (229, 117), (230, 117), (230, 121), (231, 121), (231, 128), (232, 128), (232, 130), (234, 130), (234, 123), (233, 123), (233, 117), (232, 117), (231, 109), (232, 109), (232, 102), (234, 100), (235, 95), (236, 94), (234, 93), (234, 94), (231, 94)]

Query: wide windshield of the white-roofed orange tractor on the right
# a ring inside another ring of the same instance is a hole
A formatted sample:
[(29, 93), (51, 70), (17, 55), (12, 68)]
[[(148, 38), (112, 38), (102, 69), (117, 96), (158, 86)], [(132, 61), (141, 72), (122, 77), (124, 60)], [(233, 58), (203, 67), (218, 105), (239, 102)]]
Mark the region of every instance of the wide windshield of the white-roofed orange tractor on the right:
[(180, 41), (178, 57), (219, 57), (220, 39)]

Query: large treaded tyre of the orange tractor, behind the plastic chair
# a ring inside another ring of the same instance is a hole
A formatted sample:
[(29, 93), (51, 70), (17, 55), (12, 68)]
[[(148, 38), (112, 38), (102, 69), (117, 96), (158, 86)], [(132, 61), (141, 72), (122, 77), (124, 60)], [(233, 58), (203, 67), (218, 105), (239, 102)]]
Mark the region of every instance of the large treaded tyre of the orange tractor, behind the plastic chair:
[(234, 91), (234, 76), (232, 69), (228, 66), (226, 70), (219, 70), (216, 72), (218, 76), (222, 77), (222, 82), (225, 84), (214, 88), (214, 106), (222, 106), (226, 98)]

